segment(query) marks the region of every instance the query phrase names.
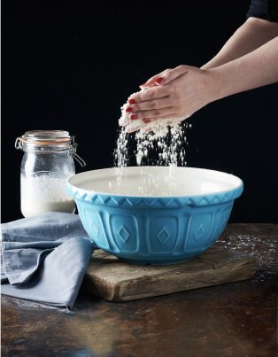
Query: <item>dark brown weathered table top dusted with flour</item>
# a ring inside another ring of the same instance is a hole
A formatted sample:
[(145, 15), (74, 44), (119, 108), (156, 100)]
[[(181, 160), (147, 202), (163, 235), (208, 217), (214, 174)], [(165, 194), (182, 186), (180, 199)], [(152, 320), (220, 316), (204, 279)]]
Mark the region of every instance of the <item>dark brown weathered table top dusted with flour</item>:
[(124, 303), (81, 291), (72, 311), (2, 296), (2, 355), (277, 356), (278, 225), (230, 223), (216, 244), (256, 276)]

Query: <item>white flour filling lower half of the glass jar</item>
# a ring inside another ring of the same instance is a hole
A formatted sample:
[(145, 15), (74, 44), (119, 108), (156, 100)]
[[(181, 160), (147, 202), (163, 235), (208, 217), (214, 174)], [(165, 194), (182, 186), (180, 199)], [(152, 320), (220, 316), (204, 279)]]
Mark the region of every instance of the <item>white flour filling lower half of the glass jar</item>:
[(75, 203), (66, 192), (67, 179), (51, 175), (21, 177), (21, 212), (24, 217), (45, 212), (75, 211)]

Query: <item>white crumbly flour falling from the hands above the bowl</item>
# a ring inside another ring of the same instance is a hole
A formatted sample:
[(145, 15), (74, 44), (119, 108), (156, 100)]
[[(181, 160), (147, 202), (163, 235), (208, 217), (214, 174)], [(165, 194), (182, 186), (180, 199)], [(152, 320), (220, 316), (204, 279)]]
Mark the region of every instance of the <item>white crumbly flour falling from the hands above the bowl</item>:
[[(135, 156), (137, 166), (186, 166), (186, 131), (191, 124), (184, 121), (186, 118), (147, 124), (143, 120), (131, 121), (126, 112), (130, 97), (120, 108), (121, 128), (114, 150), (114, 167), (131, 165), (132, 156)], [(133, 130), (136, 130), (135, 134), (130, 134)]]

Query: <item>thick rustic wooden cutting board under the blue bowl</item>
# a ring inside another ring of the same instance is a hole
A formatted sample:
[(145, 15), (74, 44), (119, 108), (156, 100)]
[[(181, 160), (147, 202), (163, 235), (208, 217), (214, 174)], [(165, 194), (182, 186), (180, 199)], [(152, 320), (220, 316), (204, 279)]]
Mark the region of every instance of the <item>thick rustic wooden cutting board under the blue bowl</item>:
[(256, 260), (213, 246), (184, 263), (164, 266), (129, 264), (102, 250), (93, 254), (83, 287), (109, 301), (129, 301), (250, 279)]

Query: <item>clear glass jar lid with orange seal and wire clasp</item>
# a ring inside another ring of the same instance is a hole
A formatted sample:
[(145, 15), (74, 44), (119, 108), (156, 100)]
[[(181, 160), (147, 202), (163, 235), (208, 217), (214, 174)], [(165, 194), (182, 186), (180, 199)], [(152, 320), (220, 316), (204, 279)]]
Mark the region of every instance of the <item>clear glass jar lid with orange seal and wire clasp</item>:
[(58, 152), (69, 151), (69, 156), (76, 159), (81, 167), (86, 163), (76, 153), (75, 136), (65, 130), (31, 130), (17, 137), (15, 148), (26, 152)]

